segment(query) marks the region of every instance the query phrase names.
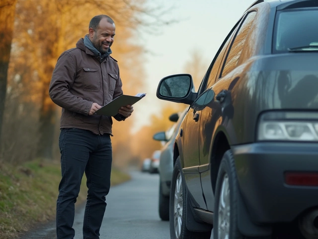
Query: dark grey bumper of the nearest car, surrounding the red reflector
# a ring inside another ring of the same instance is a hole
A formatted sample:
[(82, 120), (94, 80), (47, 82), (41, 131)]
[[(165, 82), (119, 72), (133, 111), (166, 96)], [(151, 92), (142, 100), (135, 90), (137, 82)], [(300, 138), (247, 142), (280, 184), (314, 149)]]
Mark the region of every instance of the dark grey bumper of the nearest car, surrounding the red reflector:
[(290, 186), (285, 172), (318, 172), (318, 143), (259, 142), (232, 146), (239, 188), (254, 223), (291, 222), (318, 207), (318, 187)]

